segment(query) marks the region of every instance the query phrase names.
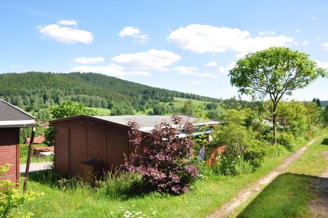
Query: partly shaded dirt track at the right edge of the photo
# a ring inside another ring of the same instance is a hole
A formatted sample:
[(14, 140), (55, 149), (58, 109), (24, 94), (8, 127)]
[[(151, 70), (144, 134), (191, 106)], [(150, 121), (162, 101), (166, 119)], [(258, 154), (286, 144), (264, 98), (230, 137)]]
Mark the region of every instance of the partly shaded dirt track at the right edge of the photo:
[[(325, 151), (324, 155), (328, 160), (328, 151)], [(314, 179), (311, 184), (314, 186), (313, 192), (316, 199), (310, 202), (310, 210), (315, 217), (328, 217), (328, 166), (320, 177)]]

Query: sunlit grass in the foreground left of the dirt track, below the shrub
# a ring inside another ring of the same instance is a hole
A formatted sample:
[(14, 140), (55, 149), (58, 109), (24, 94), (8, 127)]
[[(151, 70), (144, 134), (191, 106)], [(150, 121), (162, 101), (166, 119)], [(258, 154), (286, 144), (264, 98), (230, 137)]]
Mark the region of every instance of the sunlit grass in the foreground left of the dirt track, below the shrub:
[[(298, 148), (304, 144), (298, 145)], [(289, 155), (291, 152), (283, 156), (270, 157), (257, 171), (246, 175), (209, 175), (203, 182), (196, 183), (189, 194), (180, 196), (150, 193), (121, 200), (112, 199), (97, 190), (78, 188), (69, 191), (53, 187), (42, 179), (49, 177), (48, 173), (51, 174), (51, 171), (33, 173), (28, 189), (44, 192), (45, 195), (38, 197), (34, 202), (26, 203), (18, 210), (32, 211), (34, 217), (49, 218), (124, 217), (124, 212), (127, 210), (141, 211), (142, 217), (206, 217), (224, 202), (232, 199), (249, 183), (275, 169)]]

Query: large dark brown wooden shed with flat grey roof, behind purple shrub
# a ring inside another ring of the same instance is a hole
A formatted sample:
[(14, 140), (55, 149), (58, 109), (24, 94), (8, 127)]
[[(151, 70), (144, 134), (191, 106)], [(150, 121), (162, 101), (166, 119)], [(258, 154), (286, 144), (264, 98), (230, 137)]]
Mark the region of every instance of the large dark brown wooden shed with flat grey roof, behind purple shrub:
[[(183, 120), (196, 121), (195, 117), (182, 115)], [(150, 132), (165, 121), (172, 123), (170, 116), (123, 115), (89, 116), (76, 115), (50, 121), (55, 128), (55, 170), (65, 174), (76, 174), (81, 163), (96, 159), (103, 161), (105, 170), (124, 163), (134, 151), (128, 140), (129, 120), (140, 124), (140, 130)], [(217, 124), (207, 121), (207, 124)]]

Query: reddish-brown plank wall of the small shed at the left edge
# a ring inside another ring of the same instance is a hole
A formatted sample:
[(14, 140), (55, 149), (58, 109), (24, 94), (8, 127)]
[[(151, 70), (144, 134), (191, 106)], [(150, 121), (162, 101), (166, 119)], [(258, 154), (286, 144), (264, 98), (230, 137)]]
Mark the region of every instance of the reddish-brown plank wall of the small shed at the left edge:
[(19, 181), (19, 128), (0, 129), (0, 166), (10, 164), (9, 171), (0, 180)]

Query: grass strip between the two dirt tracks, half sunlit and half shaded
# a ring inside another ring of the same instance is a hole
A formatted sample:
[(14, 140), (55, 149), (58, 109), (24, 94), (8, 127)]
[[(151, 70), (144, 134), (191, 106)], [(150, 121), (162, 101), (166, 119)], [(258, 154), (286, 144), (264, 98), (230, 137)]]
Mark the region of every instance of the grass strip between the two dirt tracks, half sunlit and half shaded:
[[(326, 129), (323, 131), (328, 133)], [(310, 182), (328, 166), (328, 136), (319, 138), (277, 176), (237, 217), (314, 217), (308, 209), (315, 198)]]

